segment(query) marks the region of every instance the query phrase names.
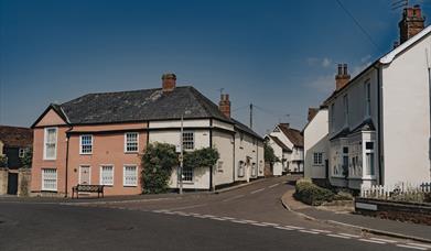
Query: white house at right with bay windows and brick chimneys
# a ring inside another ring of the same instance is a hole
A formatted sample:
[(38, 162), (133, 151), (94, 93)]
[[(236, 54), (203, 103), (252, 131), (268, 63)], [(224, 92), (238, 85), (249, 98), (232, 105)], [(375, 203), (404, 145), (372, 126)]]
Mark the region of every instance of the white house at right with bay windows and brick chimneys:
[(397, 185), (430, 181), (431, 26), (406, 8), (401, 44), (349, 80), (338, 66), (328, 107), (330, 182)]

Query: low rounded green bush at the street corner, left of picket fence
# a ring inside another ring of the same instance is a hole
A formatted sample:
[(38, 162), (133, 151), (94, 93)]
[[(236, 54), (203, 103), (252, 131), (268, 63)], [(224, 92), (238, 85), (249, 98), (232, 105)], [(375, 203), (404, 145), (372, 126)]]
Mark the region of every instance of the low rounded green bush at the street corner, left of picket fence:
[(320, 206), (322, 203), (334, 199), (332, 190), (314, 185), (310, 179), (299, 179), (295, 185), (294, 197), (305, 204)]

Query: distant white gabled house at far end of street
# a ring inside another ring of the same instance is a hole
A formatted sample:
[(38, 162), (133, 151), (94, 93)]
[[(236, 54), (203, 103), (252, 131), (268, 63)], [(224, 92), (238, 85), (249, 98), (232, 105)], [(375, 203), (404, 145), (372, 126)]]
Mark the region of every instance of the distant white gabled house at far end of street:
[(280, 170), (282, 173), (304, 172), (304, 142), (299, 130), (291, 128), (289, 123), (279, 123), (266, 139), (281, 161), (274, 163), (273, 175), (281, 175)]

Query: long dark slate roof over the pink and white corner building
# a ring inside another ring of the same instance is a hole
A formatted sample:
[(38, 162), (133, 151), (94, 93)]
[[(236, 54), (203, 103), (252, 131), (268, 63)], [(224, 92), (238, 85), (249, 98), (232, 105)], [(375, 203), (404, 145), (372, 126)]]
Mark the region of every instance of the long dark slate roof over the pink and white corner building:
[(72, 124), (170, 120), (180, 119), (182, 114), (184, 119), (215, 118), (233, 123), (217, 105), (191, 86), (166, 92), (157, 88), (88, 94), (64, 102), (60, 108)]

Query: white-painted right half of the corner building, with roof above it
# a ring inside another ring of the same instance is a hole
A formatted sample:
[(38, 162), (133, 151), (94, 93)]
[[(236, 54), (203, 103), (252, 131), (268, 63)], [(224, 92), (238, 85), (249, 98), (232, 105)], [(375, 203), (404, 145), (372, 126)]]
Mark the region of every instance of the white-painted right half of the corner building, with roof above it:
[[(228, 95), (222, 95), (217, 107), (195, 88), (176, 87), (175, 81), (163, 84), (161, 91), (168, 91), (169, 95), (154, 109), (159, 117), (148, 123), (148, 142), (179, 146), (183, 117), (184, 151), (214, 148), (219, 153), (214, 167), (193, 170), (184, 166), (185, 189), (214, 189), (263, 176), (263, 139), (230, 118)], [(173, 172), (169, 185), (171, 188), (179, 187), (177, 172)]]

